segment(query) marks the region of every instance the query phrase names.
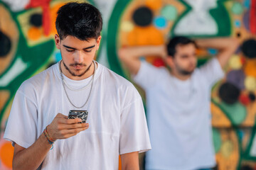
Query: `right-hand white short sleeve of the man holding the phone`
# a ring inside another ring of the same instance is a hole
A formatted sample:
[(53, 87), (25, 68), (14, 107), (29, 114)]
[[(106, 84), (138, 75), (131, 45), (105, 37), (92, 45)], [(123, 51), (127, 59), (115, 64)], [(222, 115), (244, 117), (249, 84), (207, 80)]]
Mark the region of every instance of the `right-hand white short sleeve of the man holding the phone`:
[(125, 106), (120, 119), (119, 154), (151, 149), (142, 98), (136, 98)]

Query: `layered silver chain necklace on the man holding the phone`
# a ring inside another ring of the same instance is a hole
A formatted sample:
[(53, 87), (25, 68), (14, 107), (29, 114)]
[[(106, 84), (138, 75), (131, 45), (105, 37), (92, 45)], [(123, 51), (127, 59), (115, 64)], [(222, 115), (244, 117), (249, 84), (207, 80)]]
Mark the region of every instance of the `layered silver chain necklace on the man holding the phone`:
[[(61, 64), (61, 62), (62, 62), (62, 60), (60, 61), (60, 64)], [(94, 61), (92, 61), (92, 62), (93, 62), (93, 64), (94, 64), (94, 70), (93, 70), (92, 79), (91, 79), (92, 85), (93, 85), (93, 81), (94, 81), (94, 77), (95, 77), (95, 69), (96, 69), (96, 66), (95, 66), (95, 62), (94, 62)], [(68, 97), (68, 93), (67, 93), (67, 91), (66, 91), (66, 89), (65, 89), (65, 86), (68, 86), (68, 85), (65, 84), (65, 80), (64, 80), (64, 77), (63, 77), (63, 72), (62, 72), (62, 70), (61, 70), (60, 64), (59, 64), (60, 77), (61, 77), (61, 81), (62, 81), (62, 84), (63, 84), (63, 88), (64, 88), (64, 91), (65, 91), (65, 94), (66, 94), (66, 96)], [(91, 82), (91, 81), (90, 81), (90, 82)], [(90, 84), (90, 82), (89, 82), (88, 84)], [(87, 84), (87, 85), (88, 85), (88, 84)], [(82, 89), (85, 89), (85, 87), (87, 87), (87, 85), (84, 86), (84, 87), (82, 87)], [(73, 103), (71, 102), (70, 98), (68, 97), (68, 101), (72, 104), (72, 106), (74, 106), (75, 108), (82, 108), (83, 106), (86, 105), (87, 101), (88, 101), (89, 98), (90, 98), (90, 94), (91, 94), (91, 92), (92, 92), (92, 85), (91, 85), (91, 88), (90, 88), (90, 92), (89, 92), (88, 98), (87, 98), (87, 100), (85, 101), (85, 103), (84, 103), (81, 107), (75, 106), (75, 104), (73, 104)], [(68, 89), (73, 90), (73, 88), (70, 88), (70, 86), (68, 86)], [(75, 90), (73, 90), (73, 91), (80, 91), (80, 90), (82, 90), (82, 89), (78, 89), (78, 90), (75, 89)]]

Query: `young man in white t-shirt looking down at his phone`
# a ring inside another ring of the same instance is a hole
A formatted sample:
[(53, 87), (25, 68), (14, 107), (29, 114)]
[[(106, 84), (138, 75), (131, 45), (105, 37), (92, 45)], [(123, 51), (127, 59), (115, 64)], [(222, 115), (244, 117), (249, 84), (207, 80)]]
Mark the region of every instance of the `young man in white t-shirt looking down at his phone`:
[[(151, 149), (142, 98), (129, 81), (94, 61), (100, 11), (68, 3), (55, 25), (62, 60), (23, 82), (6, 125), (13, 168), (118, 169), (121, 155), (122, 169), (139, 169), (139, 152)], [(70, 110), (86, 110), (87, 123), (68, 119)]]

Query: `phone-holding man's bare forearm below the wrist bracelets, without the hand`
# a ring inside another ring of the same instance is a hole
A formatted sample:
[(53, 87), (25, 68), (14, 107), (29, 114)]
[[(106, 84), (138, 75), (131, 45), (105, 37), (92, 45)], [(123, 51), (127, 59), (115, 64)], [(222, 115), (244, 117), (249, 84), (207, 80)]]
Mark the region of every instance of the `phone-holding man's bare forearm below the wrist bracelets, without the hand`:
[(52, 146), (42, 134), (31, 147), (18, 152), (13, 159), (13, 169), (37, 169)]

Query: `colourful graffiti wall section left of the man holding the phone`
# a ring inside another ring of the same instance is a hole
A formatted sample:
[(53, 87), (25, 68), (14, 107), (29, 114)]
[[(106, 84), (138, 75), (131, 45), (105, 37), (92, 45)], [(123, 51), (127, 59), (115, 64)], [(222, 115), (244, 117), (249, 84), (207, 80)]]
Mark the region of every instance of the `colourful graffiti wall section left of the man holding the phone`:
[(14, 148), (2, 139), (11, 101), (21, 83), (58, 62), (56, 12), (68, 1), (0, 1), (0, 169), (11, 169)]

